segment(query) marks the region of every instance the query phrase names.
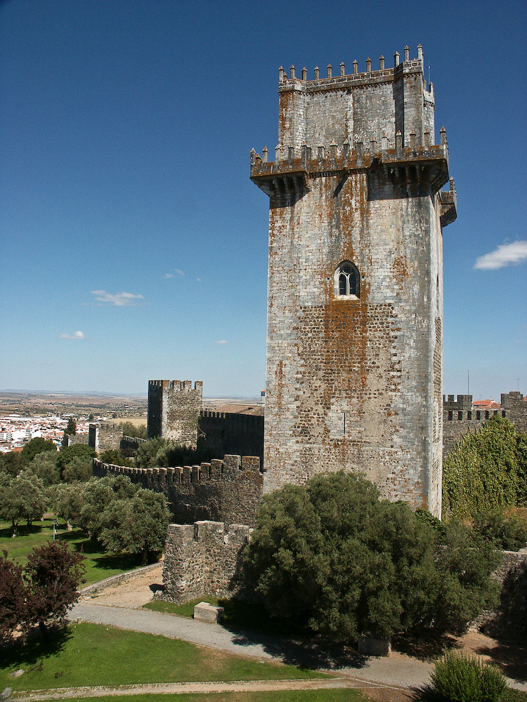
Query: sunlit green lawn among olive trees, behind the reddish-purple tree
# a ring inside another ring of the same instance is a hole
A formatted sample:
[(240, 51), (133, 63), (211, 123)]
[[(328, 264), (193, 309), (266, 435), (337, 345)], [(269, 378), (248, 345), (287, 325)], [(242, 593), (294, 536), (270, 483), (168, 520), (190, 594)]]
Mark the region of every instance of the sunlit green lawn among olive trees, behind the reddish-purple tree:
[[(8, 522), (0, 522), (0, 550), (6, 550), (8, 556), (15, 562), (25, 564), (27, 554), (35, 546), (44, 545), (53, 539), (53, 519), (34, 522), (28, 530), (25, 525), (18, 527), (18, 536), (11, 538), (13, 528)], [(141, 565), (140, 559), (134, 556), (121, 556), (106, 553), (96, 543), (89, 541), (80, 529), (67, 531), (65, 522), (59, 519), (57, 538), (66, 541), (71, 547), (84, 553), (86, 560), (85, 585), (97, 583), (112, 575), (124, 573)]]

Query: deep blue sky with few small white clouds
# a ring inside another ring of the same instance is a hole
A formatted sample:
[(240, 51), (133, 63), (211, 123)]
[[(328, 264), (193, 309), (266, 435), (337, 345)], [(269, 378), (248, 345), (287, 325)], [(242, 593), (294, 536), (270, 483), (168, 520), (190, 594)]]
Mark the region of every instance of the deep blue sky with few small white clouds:
[(273, 153), (278, 67), (422, 44), (457, 188), (444, 392), (470, 371), (476, 398), (525, 394), (526, 20), (507, 0), (1, 3), (0, 388), (259, 395), (268, 198), (249, 151)]

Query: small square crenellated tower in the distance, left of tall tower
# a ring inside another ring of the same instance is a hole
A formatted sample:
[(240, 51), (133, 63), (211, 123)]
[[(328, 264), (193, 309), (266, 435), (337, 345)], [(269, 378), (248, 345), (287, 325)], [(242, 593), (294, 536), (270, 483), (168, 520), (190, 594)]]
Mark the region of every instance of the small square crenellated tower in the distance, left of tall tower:
[(194, 387), (191, 380), (149, 380), (148, 438), (163, 437), (195, 449), (202, 390), (201, 380)]

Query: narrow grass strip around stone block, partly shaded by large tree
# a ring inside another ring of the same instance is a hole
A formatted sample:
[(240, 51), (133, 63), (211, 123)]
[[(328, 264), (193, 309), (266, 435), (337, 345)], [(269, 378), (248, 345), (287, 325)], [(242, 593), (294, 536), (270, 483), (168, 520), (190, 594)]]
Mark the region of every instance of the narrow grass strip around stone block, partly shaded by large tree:
[(222, 600), (212, 595), (203, 595), (203, 597), (197, 597), (196, 600), (190, 600), (190, 602), (185, 604), (152, 600), (152, 602), (148, 602), (143, 607), (153, 611), (192, 618), (194, 606), (198, 602), (209, 602), (214, 607), (223, 607), (225, 612), (221, 623), (223, 626), (232, 627), (233, 629), (251, 630), (288, 638), (305, 634), (305, 631), (293, 619), (271, 616), (263, 605), (254, 602)]

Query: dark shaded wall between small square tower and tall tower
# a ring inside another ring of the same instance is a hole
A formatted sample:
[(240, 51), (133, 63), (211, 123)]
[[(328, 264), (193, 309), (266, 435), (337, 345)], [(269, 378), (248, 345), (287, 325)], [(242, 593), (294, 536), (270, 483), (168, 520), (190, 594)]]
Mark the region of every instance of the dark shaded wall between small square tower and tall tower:
[(202, 410), (199, 427), (198, 451), (258, 456), (263, 464), (263, 416)]

